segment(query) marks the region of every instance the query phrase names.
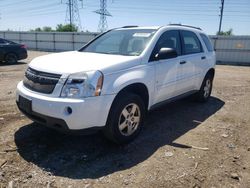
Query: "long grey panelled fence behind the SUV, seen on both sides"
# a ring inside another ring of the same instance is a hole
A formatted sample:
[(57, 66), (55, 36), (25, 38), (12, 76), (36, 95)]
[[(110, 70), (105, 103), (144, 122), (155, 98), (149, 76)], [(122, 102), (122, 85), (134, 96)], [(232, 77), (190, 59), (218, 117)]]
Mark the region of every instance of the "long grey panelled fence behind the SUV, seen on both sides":
[[(76, 50), (98, 33), (0, 31), (0, 38), (25, 43), (29, 49), (46, 51)], [(250, 36), (210, 36), (218, 63), (250, 65)]]

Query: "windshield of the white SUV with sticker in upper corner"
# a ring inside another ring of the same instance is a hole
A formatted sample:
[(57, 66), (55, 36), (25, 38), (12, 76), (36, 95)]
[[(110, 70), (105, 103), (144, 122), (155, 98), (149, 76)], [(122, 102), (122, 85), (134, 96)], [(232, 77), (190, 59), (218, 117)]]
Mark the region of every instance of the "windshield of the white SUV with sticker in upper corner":
[(155, 29), (112, 30), (100, 36), (80, 51), (138, 56), (146, 48)]

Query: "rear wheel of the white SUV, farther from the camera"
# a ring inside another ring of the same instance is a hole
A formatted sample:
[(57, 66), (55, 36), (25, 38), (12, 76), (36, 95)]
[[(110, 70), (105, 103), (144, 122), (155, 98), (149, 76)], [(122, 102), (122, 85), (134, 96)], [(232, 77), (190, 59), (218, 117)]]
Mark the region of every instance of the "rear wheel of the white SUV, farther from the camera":
[(195, 96), (198, 102), (207, 102), (210, 98), (213, 88), (213, 77), (211, 74), (207, 74), (202, 82), (201, 88)]

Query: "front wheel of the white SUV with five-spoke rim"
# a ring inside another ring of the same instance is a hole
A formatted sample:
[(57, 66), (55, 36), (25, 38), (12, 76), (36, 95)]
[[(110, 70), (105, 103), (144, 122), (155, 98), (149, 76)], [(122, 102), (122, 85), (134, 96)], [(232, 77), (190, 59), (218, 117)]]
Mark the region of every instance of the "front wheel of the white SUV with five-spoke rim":
[(145, 104), (138, 95), (118, 96), (109, 112), (104, 135), (117, 144), (131, 142), (142, 128), (145, 112)]

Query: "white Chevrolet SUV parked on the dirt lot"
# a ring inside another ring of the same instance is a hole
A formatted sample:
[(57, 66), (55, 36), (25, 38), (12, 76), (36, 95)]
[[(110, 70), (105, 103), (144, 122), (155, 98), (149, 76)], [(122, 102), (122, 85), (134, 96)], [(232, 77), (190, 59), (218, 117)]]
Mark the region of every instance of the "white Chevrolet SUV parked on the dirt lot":
[(30, 119), (63, 131), (99, 130), (116, 143), (140, 132), (146, 111), (195, 94), (207, 101), (215, 52), (199, 28), (123, 27), (78, 51), (32, 60), (17, 86)]

